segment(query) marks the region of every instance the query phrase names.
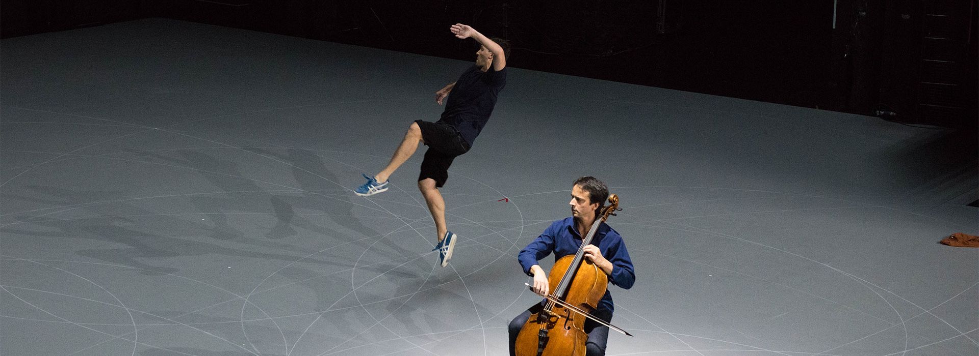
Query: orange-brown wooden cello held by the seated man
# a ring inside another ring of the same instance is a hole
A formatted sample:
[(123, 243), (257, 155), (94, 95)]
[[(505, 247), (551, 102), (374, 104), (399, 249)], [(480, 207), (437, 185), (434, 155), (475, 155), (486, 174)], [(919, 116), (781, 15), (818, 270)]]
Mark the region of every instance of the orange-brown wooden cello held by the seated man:
[[(591, 223), (582, 246), (575, 255), (558, 258), (547, 274), (547, 284), (557, 286), (546, 296), (540, 311), (531, 314), (520, 330), (514, 350), (518, 356), (583, 356), (584, 342), (588, 334), (584, 332), (585, 319), (591, 319), (610, 329), (629, 333), (589, 314), (598, 301), (605, 296), (608, 276), (594, 263), (584, 259), (584, 247), (591, 243), (598, 226), (619, 209), (619, 196), (609, 196), (608, 207), (601, 213), (601, 219)], [(527, 285), (533, 287), (529, 284)]]

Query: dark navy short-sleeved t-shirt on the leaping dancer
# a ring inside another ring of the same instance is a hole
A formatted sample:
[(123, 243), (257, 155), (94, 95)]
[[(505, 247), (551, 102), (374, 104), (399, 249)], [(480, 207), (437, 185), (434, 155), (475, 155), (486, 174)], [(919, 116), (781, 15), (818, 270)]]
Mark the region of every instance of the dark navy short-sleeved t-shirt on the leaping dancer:
[(496, 96), (506, 85), (506, 68), (494, 71), (490, 65), (486, 72), (480, 69), (473, 65), (459, 76), (439, 119), (454, 127), (470, 147), (489, 121)]

